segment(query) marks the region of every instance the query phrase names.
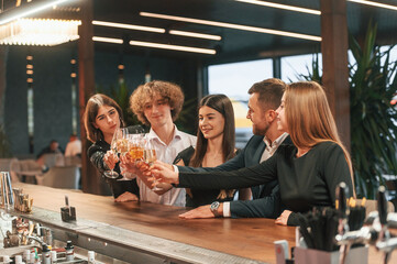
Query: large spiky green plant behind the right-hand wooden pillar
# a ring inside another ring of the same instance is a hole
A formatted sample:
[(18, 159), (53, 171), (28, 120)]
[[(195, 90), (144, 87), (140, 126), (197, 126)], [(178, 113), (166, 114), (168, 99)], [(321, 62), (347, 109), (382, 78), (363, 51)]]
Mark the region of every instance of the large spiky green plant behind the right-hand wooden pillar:
[[(397, 174), (397, 110), (390, 105), (397, 92), (397, 62), (390, 62), (375, 44), (376, 24), (370, 22), (362, 45), (350, 35), (349, 48), (354, 62), (349, 63), (351, 156), (359, 197), (375, 198), (384, 175)], [(317, 54), (312, 72), (301, 79), (321, 82)]]

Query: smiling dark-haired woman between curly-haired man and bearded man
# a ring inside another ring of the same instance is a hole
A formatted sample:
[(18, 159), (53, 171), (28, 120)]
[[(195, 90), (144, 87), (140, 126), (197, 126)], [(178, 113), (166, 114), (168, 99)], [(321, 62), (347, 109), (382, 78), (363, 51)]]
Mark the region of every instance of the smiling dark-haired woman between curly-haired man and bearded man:
[[(192, 146), (178, 154), (174, 164), (192, 167), (214, 167), (235, 156), (234, 112), (224, 95), (210, 95), (200, 100), (199, 130), (196, 150)], [(234, 189), (186, 189), (186, 207), (199, 207), (212, 201), (231, 201)], [(250, 199), (250, 189), (239, 190), (239, 199)]]

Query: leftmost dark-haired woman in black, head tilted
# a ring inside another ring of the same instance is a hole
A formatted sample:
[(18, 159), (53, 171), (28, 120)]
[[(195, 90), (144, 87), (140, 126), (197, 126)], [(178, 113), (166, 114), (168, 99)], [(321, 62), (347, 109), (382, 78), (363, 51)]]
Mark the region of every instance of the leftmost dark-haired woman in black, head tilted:
[(122, 178), (119, 158), (110, 152), (110, 144), (115, 129), (124, 125), (120, 106), (108, 96), (93, 95), (87, 101), (84, 123), (87, 139), (93, 143), (88, 148), (88, 157), (109, 184), (114, 201), (139, 200), (140, 190), (135, 179), (118, 180), (117, 178), (103, 176), (104, 170), (114, 168), (120, 175), (119, 178)]

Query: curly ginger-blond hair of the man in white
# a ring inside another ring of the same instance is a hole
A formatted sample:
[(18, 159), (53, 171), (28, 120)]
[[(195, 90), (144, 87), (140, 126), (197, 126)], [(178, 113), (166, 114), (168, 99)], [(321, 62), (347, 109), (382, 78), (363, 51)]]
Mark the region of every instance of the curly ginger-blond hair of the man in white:
[(181, 88), (173, 82), (163, 80), (152, 80), (147, 84), (140, 85), (130, 97), (130, 109), (137, 119), (150, 125), (151, 123), (144, 114), (144, 107), (148, 101), (152, 101), (155, 95), (159, 95), (170, 107), (170, 114), (175, 121), (184, 105), (185, 95)]

